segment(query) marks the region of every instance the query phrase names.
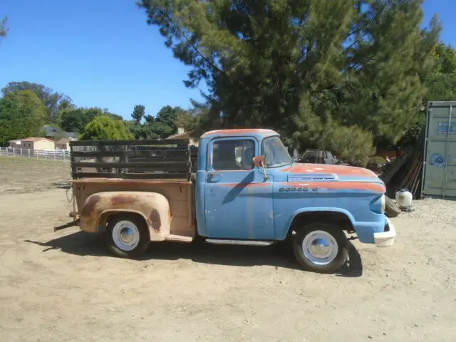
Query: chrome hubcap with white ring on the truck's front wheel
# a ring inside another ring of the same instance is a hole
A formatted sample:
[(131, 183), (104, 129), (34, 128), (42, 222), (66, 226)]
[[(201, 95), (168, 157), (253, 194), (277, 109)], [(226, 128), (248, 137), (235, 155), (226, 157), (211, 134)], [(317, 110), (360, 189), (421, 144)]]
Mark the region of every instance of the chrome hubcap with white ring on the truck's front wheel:
[(326, 265), (336, 259), (338, 246), (336, 239), (323, 230), (310, 232), (302, 242), (304, 257), (312, 264)]

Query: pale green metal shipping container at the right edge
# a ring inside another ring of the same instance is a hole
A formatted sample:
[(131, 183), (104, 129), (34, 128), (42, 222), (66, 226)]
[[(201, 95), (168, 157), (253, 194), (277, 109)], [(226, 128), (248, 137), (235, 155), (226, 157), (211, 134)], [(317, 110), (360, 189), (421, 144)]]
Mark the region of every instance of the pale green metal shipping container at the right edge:
[(456, 199), (456, 101), (427, 105), (421, 194)]

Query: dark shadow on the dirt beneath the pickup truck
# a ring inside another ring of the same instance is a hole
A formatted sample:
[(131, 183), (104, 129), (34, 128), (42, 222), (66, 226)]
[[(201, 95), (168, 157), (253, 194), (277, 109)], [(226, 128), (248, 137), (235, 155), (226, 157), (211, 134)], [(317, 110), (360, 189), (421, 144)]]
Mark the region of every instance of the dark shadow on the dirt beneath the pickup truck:
[[(78, 256), (113, 257), (105, 247), (103, 238), (100, 235), (85, 232), (75, 232), (48, 242), (31, 240), (25, 240), (25, 242), (46, 247), (43, 252), (47, 252), (50, 249), (60, 249), (64, 253)], [(152, 242), (145, 256), (138, 259), (138, 261), (154, 259), (170, 261), (187, 259), (202, 264), (225, 266), (270, 265), (277, 268), (301, 270), (294, 257), (290, 241), (280, 242), (269, 247), (206, 244), (202, 239), (197, 239), (191, 244)], [(356, 277), (363, 274), (361, 256), (353, 244), (350, 243), (349, 262), (341, 269), (338, 269), (335, 274), (336, 276), (345, 277)]]

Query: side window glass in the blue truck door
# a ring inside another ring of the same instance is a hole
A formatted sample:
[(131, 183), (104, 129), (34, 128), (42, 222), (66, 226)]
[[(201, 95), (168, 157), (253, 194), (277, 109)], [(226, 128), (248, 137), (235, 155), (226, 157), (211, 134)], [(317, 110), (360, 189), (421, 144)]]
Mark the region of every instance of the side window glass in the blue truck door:
[(255, 144), (253, 140), (219, 140), (212, 145), (214, 170), (251, 170)]

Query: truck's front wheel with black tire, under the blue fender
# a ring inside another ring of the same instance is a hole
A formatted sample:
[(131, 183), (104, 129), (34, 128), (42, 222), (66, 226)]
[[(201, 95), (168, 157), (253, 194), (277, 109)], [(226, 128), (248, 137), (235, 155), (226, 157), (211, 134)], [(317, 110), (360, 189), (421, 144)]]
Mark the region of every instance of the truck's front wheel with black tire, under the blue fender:
[(293, 247), (299, 264), (318, 273), (333, 273), (348, 258), (348, 239), (343, 230), (323, 222), (299, 229)]

